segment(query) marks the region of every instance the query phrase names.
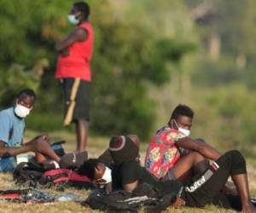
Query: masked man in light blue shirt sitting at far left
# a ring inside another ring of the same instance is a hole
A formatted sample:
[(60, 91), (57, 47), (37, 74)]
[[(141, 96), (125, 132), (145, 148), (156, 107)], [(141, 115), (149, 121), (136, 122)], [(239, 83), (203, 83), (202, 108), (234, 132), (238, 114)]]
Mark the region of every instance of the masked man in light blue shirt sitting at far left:
[(17, 95), (15, 107), (0, 112), (0, 172), (14, 171), (16, 156), (20, 153), (42, 153), (56, 162), (60, 158), (49, 147), (47, 135), (39, 135), (23, 144), (24, 118), (31, 112), (36, 95), (32, 89), (23, 89)]

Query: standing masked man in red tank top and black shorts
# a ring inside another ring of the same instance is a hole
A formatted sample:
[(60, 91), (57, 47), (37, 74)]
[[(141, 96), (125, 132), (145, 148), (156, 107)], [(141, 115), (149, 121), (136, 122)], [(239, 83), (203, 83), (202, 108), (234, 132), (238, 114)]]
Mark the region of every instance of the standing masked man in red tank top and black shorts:
[(65, 100), (64, 125), (76, 125), (77, 151), (86, 149), (90, 120), (90, 59), (93, 50), (93, 29), (88, 21), (87, 3), (74, 3), (68, 21), (73, 31), (55, 49), (59, 53), (55, 78), (61, 79)]

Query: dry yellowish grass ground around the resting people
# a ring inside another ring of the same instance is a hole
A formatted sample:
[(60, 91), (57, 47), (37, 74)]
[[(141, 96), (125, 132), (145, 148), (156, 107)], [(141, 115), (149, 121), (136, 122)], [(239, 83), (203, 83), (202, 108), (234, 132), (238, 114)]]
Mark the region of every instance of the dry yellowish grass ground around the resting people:
[[(34, 136), (34, 132), (27, 132), (26, 137), (32, 138)], [(74, 144), (74, 135), (68, 134), (66, 132), (53, 132), (50, 134), (52, 141), (57, 141), (65, 138), (67, 144), (65, 145), (65, 149), (67, 151), (73, 150)], [(89, 157), (94, 158), (102, 153), (106, 147), (108, 147), (108, 138), (100, 138), (100, 137), (93, 137), (89, 140)], [(141, 147), (142, 149), (142, 157), (145, 153), (146, 145)], [(248, 159), (250, 162), (247, 164), (248, 168), (248, 176), (250, 182), (250, 188), (253, 192), (252, 194), (256, 196), (256, 170), (255, 164), (253, 165), (253, 159)], [(1, 174), (0, 175), (0, 189), (7, 190), (7, 189), (14, 189), (17, 188), (12, 180), (12, 176), (9, 174)], [(49, 193), (53, 194), (61, 194), (59, 192), (55, 192), (54, 190), (48, 190)], [(89, 191), (86, 190), (75, 190), (73, 188), (65, 190), (64, 193), (74, 193), (82, 199), (86, 199)], [(172, 208), (166, 210), (166, 212), (174, 211)], [(61, 202), (61, 203), (54, 203), (54, 204), (12, 204), (12, 203), (5, 203), (1, 202), (1, 209), (0, 212), (47, 212), (47, 213), (66, 213), (66, 212), (99, 212), (96, 210), (90, 210), (89, 208), (85, 208), (80, 204), (76, 204), (74, 202)], [(191, 209), (191, 208), (182, 208), (180, 210), (175, 210), (177, 213), (188, 213), (188, 212), (214, 212), (214, 213), (224, 213), (224, 212), (235, 212), (232, 210), (223, 210), (216, 208), (215, 206), (207, 206), (204, 209)]]

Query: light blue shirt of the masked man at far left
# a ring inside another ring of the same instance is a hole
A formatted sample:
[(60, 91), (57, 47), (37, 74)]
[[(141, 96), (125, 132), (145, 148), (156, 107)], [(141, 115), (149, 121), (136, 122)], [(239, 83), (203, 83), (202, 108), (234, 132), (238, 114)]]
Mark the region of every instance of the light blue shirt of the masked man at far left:
[[(14, 107), (0, 112), (0, 141), (6, 143), (6, 147), (20, 147), (25, 131), (24, 119), (15, 116)], [(13, 171), (16, 167), (16, 158), (0, 158), (0, 171)]]

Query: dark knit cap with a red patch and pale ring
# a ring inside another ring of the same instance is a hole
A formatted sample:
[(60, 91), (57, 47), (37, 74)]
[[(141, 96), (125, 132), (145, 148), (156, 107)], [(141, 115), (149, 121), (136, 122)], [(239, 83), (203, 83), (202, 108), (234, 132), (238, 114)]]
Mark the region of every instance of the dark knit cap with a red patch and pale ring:
[(125, 161), (136, 159), (139, 148), (125, 135), (113, 136), (109, 141), (109, 151), (115, 164), (122, 164)]

